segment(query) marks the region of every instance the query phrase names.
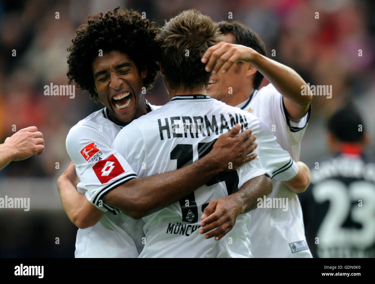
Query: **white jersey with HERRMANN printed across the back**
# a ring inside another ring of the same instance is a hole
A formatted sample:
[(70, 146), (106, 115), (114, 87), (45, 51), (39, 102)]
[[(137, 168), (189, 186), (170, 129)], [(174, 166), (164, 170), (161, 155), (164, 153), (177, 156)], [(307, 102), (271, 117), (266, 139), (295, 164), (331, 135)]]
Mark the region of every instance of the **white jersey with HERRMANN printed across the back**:
[[(234, 228), (217, 242), (205, 239), (199, 227), (202, 211), (212, 199), (224, 198), (266, 172), (279, 172), (281, 180), (297, 174), (290, 155), (258, 118), (205, 95), (175, 96), (165, 106), (124, 127), (112, 148), (126, 157), (138, 177), (146, 177), (198, 160), (211, 150), (221, 133), (237, 123), (242, 124), (242, 130), (253, 130), (259, 156), (235, 171), (216, 175), (180, 201), (144, 217), (146, 240), (139, 257), (252, 257), (249, 213), (240, 215)], [(266, 171), (259, 157), (267, 160)]]

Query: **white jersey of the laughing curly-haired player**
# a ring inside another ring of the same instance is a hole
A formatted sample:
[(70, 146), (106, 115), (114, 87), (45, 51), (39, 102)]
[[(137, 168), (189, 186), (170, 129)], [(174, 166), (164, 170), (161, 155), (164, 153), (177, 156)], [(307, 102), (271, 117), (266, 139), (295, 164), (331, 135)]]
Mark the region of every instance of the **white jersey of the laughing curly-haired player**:
[(75, 257), (138, 257), (143, 248), (143, 221), (101, 201), (110, 190), (136, 178), (126, 160), (111, 149), (121, 128), (108, 118), (104, 108), (78, 122), (66, 138), (66, 149), (80, 179), (78, 190), (106, 212), (94, 226), (78, 229)]

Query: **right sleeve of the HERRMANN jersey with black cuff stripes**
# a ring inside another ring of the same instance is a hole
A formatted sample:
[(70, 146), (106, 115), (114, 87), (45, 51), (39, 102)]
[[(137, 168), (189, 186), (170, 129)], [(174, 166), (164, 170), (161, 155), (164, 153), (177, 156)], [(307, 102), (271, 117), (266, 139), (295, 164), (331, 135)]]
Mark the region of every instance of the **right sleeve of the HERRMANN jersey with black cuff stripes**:
[(258, 125), (252, 125), (249, 128), (253, 130), (252, 135), (257, 136), (258, 157), (267, 175), (278, 181), (294, 178), (298, 172), (297, 164), (290, 154), (276, 142), (276, 137), (273, 136), (267, 125), (258, 119)]

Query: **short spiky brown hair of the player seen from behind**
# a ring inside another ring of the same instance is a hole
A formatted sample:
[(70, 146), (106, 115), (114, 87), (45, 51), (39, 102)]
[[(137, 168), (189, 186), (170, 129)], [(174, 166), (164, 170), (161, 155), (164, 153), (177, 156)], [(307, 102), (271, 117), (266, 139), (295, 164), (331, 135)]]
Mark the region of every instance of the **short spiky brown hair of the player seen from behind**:
[(190, 9), (171, 18), (156, 36), (160, 63), (172, 89), (207, 88), (211, 73), (201, 58), (208, 47), (223, 40), (210, 17)]

